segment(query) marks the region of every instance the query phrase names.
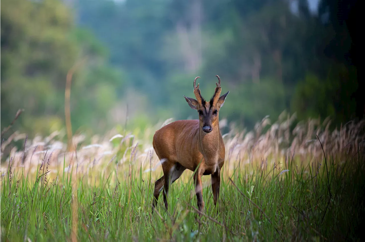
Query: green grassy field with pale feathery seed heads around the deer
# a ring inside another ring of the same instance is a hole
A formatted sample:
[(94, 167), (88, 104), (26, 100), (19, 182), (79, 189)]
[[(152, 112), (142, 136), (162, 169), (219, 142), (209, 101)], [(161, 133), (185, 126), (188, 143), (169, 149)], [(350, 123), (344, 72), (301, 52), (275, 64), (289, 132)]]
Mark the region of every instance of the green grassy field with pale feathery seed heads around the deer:
[(358, 241), (364, 124), (330, 132), (327, 121), (292, 132), (291, 117), (252, 132), (231, 126), (219, 204), (203, 176), (200, 216), (191, 171), (171, 186), (169, 210), (160, 195), (151, 215), (162, 171), (150, 143), (161, 126), (74, 136), (72, 151), (62, 132), (32, 140), (16, 132), (0, 148), (0, 241)]

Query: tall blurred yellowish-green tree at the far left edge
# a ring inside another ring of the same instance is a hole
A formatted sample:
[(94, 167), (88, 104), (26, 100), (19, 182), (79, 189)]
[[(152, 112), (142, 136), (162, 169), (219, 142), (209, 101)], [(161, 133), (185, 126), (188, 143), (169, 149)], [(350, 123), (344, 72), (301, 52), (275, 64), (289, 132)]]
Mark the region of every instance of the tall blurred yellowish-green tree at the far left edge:
[[(56, 0), (4, 0), (0, 8), (1, 126), (18, 108), (24, 128), (59, 127), (65, 76), (77, 57), (69, 40), (72, 19)], [(42, 124), (41, 124), (42, 123)], [(41, 131), (37, 129), (36, 131)]]

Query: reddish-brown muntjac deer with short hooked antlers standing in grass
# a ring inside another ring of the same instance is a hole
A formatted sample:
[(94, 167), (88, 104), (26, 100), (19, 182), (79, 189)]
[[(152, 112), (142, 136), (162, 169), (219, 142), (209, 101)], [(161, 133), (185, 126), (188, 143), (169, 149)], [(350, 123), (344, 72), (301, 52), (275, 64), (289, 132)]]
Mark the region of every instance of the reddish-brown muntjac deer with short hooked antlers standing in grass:
[[(172, 122), (153, 136), (153, 148), (161, 160), (164, 175), (155, 182), (152, 213), (157, 205), (161, 190), (163, 190), (166, 210), (169, 186), (176, 181), (184, 170), (197, 171), (194, 175), (195, 193), (199, 211), (204, 209), (201, 187), (201, 176), (211, 175), (214, 206), (219, 198), (220, 169), (224, 164), (224, 143), (219, 130), (219, 110), (228, 95), (220, 95), (220, 78), (216, 83), (213, 97), (206, 102), (200, 94), (199, 83), (194, 79), (194, 94), (196, 99), (187, 98), (192, 109), (197, 110), (199, 120), (178, 120)], [(164, 160), (164, 162), (162, 162)], [(198, 167), (199, 166), (199, 167)]]

